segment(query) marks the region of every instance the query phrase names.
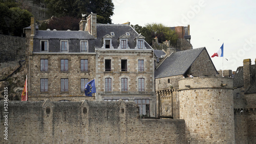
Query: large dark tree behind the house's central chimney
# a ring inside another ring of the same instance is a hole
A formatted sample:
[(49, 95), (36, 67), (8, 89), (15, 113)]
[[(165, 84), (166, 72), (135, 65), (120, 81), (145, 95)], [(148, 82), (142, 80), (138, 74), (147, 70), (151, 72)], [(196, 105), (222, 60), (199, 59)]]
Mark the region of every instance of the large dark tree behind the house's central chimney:
[(111, 23), (114, 14), (112, 0), (45, 0), (48, 12), (55, 17), (72, 16), (81, 18), (81, 14), (97, 14), (98, 23)]

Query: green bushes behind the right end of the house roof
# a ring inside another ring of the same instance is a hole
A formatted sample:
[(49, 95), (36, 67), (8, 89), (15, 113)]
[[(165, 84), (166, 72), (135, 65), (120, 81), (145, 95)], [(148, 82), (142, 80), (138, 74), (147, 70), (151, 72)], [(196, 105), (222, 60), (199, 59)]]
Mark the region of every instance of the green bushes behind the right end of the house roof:
[(152, 23), (147, 24), (145, 27), (141, 27), (139, 25), (131, 25), (135, 31), (139, 34), (142, 34), (145, 37), (145, 41), (152, 45), (153, 38), (157, 37), (158, 42), (162, 43), (164, 41), (170, 41), (170, 45), (176, 46), (178, 35), (175, 31), (171, 30), (170, 28), (164, 26), (161, 23)]

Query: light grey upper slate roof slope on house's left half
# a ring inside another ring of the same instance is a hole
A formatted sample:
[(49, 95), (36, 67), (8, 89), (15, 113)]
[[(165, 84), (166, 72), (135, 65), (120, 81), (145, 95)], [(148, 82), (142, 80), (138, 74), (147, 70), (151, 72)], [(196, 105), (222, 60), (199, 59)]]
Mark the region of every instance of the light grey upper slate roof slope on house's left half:
[(37, 31), (38, 39), (94, 39), (87, 31)]

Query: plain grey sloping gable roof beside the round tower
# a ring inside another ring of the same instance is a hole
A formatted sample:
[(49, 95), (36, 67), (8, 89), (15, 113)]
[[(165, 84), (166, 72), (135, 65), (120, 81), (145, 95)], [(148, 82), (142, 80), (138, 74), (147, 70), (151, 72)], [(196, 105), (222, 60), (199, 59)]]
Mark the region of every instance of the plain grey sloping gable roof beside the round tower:
[(163, 63), (155, 70), (155, 79), (184, 75), (204, 49), (205, 47), (201, 47), (180, 51), (166, 57)]

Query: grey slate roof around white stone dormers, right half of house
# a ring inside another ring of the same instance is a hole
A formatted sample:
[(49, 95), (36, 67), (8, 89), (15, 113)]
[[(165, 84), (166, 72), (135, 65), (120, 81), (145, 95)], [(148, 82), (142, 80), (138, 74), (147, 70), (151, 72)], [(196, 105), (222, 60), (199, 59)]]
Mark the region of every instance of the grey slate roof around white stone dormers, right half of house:
[[(117, 49), (119, 46), (119, 41), (117, 40), (120, 36), (126, 35), (126, 32), (130, 33), (128, 38), (128, 45), (130, 49), (134, 49), (136, 46), (136, 41), (134, 40), (139, 34), (129, 25), (112, 25), (112, 24), (99, 24), (97, 23), (97, 40), (95, 41), (96, 47), (103, 46), (102, 38), (114, 32), (115, 36), (112, 36), (112, 45), (114, 49)], [(145, 42), (146, 49), (152, 49), (150, 45)]]

